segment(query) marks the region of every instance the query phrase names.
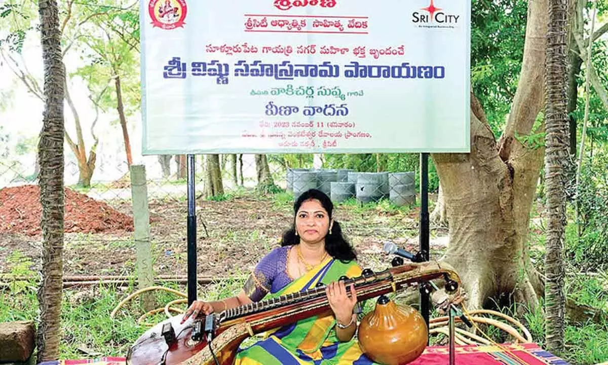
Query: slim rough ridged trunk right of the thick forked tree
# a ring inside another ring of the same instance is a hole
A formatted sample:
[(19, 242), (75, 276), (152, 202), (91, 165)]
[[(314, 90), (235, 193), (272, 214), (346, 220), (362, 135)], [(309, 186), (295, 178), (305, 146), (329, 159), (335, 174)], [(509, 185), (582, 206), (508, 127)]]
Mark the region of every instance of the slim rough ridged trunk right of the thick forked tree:
[(567, 0), (549, 1), (547, 59), (545, 61), (545, 184), (547, 187), (547, 251), (545, 253), (545, 346), (564, 351), (564, 231), (565, 168), (568, 161), (568, 114), (565, 94)]

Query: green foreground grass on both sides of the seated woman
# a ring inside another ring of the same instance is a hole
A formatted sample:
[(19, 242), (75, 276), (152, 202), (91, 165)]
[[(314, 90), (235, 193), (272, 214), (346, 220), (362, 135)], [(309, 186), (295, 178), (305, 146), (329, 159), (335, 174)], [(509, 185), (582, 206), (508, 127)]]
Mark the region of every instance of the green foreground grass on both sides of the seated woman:
[[(18, 254), (14, 254), (16, 259)], [(24, 274), (24, 266), (15, 269), (14, 274)], [(31, 277), (36, 277), (30, 273)], [(216, 282), (205, 287), (199, 287), (199, 299), (216, 300), (236, 294), (244, 282), (243, 273), (235, 273), (228, 280)], [(168, 283), (167, 287), (185, 292), (184, 287)], [(22, 321), (38, 318), (38, 299), (36, 298), (36, 283), (32, 280), (21, 282), (15, 291), (0, 291), (0, 321)], [(61, 358), (87, 358), (82, 349), (90, 349), (97, 356), (125, 356), (128, 347), (147, 329), (137, 324), (137, 318), (143, 311), (133, 301), (119, 311), (116, 318), (109, 317), (111, 311), (128, 294), (133, 293), (133, 287), (117, 288), (112, 286), (88, 287), (80, 290), (64, 290), (62, 308), (62, 340)], [(604, 301), (606, 292), (600, 292), (599, 282), (596, 278), (588, 281), (583, 279), (571, 283), (568, 288), (571, 296), (584, 302)], [(178, 296), (164, 291), (154, 291), (154, 297), (159, 305), (163, 305)], [(600, 295), (601, 294), (601, 295)], [(365, 312), (373, 310), (375, 299), (366, 302)], [(184, 306), (182, 306), (184, 308)], [(511, 315), (514, 311), (508, 311)], [(147, 322), (160, 322), (164, 315), (147, 318)], [(524, 318), (534, 341), (544, 343), (544, 314), (541, 308), (528, 312)], [(496, 330), (488, 329), (488, 335), (495, 341), (504, 341), (505, 338)], [(434, 339), (432, 342), (436, 342)], [(562, 354), (571, 364), (596, 364), (608, 359), (608, 324), (589, 323), (582, 327), (568, 325), (565, 332), (566, 353)]]

